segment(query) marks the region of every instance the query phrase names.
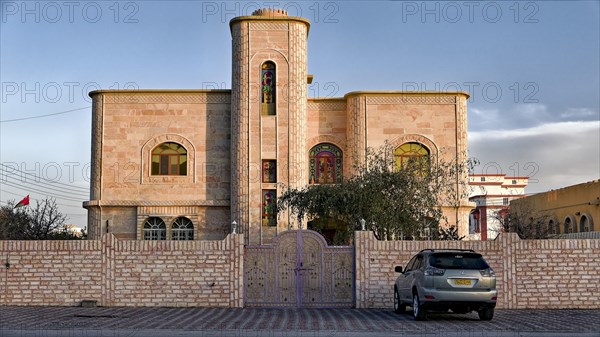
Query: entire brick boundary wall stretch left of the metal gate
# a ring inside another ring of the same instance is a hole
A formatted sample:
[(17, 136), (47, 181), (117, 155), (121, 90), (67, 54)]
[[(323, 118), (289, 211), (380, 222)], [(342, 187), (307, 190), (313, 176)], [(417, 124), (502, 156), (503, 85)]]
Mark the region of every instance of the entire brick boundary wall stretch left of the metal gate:
[(0, 305), (242, 307), (243, 250), (241, 235), (0, 241)]

